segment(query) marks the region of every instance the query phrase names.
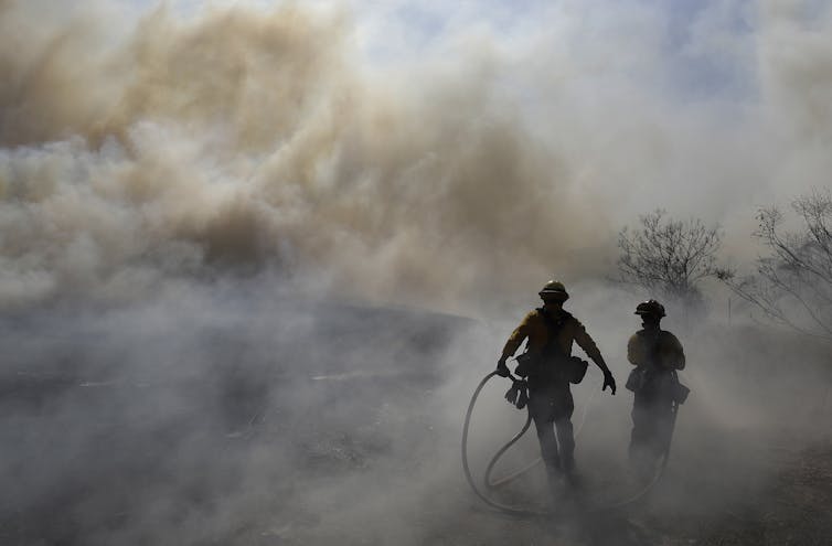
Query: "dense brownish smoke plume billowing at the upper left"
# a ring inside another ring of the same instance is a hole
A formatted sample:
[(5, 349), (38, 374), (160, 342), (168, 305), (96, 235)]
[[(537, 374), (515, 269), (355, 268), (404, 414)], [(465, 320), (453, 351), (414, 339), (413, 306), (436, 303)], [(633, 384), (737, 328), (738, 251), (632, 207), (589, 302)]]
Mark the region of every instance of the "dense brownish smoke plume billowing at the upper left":
[(600, 244), (566, 165), (494, 96), (494, 60), (382, 79), (343, 25), (160, 9), (126, 39), (85, 21), (23, 58), (4, 45), (4, 301), (270, 266), (436, 304)]

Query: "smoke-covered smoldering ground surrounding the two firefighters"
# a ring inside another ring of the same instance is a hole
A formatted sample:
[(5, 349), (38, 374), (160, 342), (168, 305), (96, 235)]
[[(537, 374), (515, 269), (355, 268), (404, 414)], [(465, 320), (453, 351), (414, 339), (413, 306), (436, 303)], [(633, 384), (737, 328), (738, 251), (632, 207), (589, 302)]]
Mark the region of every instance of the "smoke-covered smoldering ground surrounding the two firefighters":
[[(684, 340), (693, 394), (651, 495), (611, 512), (513, 517), (480, 503), (459, 460), (469, 397), (493, 368), (508, 321), (299, 300), (269, 292), (276, 285), (249, 279), (129, 309), (66, 304), (7, 317), (3, 543), (823, 544), (829, 536), (832, 400), (822, 347), (789, 335), (761, 341), (748, 325), (696, 330)], [(626, 332), (612, 325), (620, 317), (584, 313), (622, 383), (616, 336)], [(524, 419), (502, 400), (505, 388), (488, 385), (476, 408), (477, 475)], [(631, 395), (599, 389), (594, 371), (574, 388), (590, 505), (638, 491), (626, 464)], [(498, 474), (536, 456), (530, 433)], [(491, 494), (545, 510), (543, 472), (534, 468)]]

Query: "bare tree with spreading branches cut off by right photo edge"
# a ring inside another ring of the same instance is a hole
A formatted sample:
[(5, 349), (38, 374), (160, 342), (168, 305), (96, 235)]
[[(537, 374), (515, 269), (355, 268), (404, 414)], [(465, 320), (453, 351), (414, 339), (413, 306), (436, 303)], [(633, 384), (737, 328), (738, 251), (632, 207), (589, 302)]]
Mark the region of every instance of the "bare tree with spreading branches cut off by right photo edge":
[(791, 207), (799, 231), (783, 229), (777, 207), (759, 212), (754, 235), (768, 255), (757, 259), (756, 275), (737, 279), (723, 268), (718, 277), (775, 323), (832, 341), (832, 193), (800, 196)]

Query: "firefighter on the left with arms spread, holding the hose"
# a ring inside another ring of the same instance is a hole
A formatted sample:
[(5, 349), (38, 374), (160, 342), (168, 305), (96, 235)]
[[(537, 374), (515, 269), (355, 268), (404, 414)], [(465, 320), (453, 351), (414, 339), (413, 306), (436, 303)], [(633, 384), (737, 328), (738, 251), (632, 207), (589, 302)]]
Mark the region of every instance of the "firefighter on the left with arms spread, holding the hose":
[[(497, 373), (509, 375), (505, 361), (527, 338), (527, 358), (524, 361), (530, 364), (525, 371), (521, 370), (523, 364), (518, 366), (518, 374), (527, 375), (529, 410), (537, 429), (550, 483), (554, 484), (553, 480), (561, 471), (569, 479), (575, 478), (575, 439), (570, 420), (574, 403), (569, 381), (562, 373), (569, 361), (575, 358), (570, 356), (573, 342), (604, 372), (602, 389), (610, 387), (611, 393), (616, 394), (616, 381), (584, 325), (563, 309), (564, 302), (569, 298), (563, 283), (548, 281), (538, 293), (543, 299), (543, 307), (526, 314), (511, 334), (497, 364)], [(553, 424), (557, 430), (557, 441)]]

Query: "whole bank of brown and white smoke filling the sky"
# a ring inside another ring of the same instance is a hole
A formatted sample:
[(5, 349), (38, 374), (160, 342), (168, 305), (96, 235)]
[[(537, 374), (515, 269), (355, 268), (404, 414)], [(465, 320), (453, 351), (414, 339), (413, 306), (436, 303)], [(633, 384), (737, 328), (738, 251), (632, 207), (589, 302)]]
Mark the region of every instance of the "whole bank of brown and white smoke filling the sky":
[(669, 38), (658, 8), (566, 2), (504, 43), (460, 9), (433, 56), (390, 66), (343, 10), (2, 10), (6, 304), (218, 266), (470, 309), (602, 276), (657, 206), (753, 257), (756, 206), (828, 183), (824, 12), (714, 4)]

